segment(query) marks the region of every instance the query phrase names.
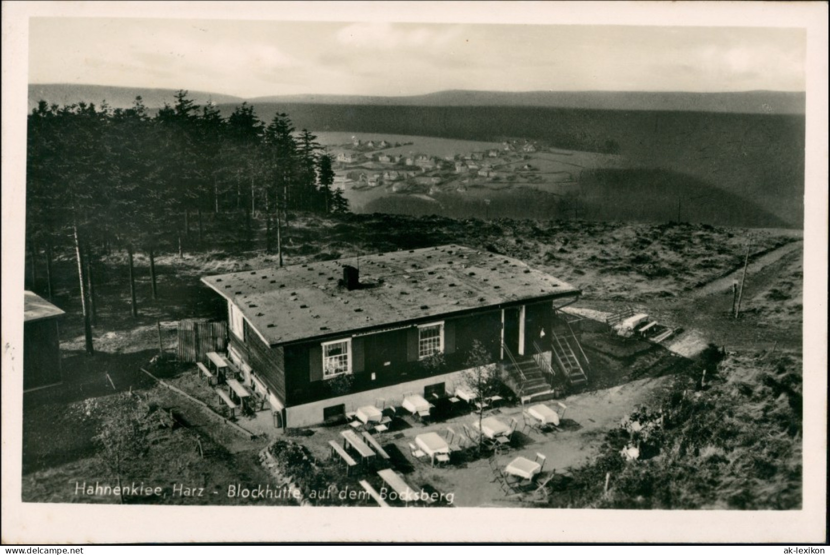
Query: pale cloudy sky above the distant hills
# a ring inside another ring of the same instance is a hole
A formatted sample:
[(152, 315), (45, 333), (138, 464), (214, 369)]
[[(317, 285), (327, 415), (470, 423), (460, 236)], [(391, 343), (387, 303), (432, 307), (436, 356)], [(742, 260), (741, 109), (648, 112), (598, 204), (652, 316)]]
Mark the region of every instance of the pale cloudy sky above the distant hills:
[(30, 84), (243, 98), (805, 87), (793, 28), (33, 17), (29, 32)]

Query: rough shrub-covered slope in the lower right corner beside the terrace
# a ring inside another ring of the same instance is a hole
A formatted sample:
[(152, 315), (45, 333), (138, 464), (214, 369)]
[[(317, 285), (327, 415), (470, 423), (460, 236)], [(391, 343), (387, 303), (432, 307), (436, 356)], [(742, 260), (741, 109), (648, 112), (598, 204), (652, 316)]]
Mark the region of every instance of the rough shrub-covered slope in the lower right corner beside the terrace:
[[(801, 360), (731, 354), (701, 385), (701, 367), (675, 378), (662, 405), (632, 421), (649, 434), (608, 432), (591, 464), (554, 481), (554, 507), (799, 509), (802, 494)], [(641, 460), (620, 450), (641, 439)], [(610, 473), (608, 492), (603, 491)]]

